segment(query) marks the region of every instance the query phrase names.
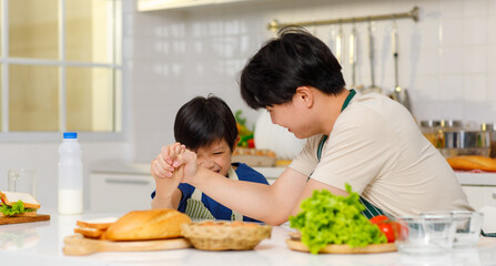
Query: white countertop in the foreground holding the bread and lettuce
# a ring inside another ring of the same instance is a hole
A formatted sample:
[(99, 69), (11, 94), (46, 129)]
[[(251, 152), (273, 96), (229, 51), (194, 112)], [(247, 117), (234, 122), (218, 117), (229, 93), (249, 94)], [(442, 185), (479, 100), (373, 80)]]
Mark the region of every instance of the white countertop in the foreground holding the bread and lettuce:
[(52, 209), (40, 209), (40, 213), (50, 214), (51, 221), (0, 225), (1, 265), (488, 265), (496, 262), (496, 238), (482, 238), (477, 248), (428, 257), (398, 253), (311, 255), (286, 247), (287, 225), (273, 227), (272, 238), (262, 241), (254, 250), (203, 252), (186, 248), (65, 256), (62, 253), (63, 238), (73, 234), (75, 221), (119, 217), (123, 214), (58, 215)]

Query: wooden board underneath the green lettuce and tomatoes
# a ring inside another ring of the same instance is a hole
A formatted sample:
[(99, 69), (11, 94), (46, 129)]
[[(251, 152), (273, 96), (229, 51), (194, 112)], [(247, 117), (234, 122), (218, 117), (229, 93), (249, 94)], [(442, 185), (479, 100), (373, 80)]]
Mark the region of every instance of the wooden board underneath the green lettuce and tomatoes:
[[(310, 252), (308, 247), (300, 241), (286, 239), (287, 246), (293, 250)], [(350, 247), (348, 245), (327, 245), (318, 253), (334, 253), (334, 254), (366, 254), (366, 253), (388, 253), (396, 252), (394, 243), (375, 244), (365, 247)]]

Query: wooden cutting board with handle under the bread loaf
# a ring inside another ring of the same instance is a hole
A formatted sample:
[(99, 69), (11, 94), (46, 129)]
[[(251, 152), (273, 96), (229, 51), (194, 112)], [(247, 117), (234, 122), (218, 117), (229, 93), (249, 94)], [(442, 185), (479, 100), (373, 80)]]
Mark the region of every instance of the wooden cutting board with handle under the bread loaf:
[(85, 238), (80, 234), (67, 236), (63, 243), (63, 253), (70, 256), (91, 255), (99, 252), (149, 252), (191, 247), (186, 238), (111, 242)]

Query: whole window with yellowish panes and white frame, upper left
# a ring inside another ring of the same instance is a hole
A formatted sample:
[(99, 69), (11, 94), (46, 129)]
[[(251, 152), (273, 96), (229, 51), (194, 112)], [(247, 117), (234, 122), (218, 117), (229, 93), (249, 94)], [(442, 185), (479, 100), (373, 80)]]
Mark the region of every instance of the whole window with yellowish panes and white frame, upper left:
[(121, 0), (0, 3), (0, 136), (122, 132)]

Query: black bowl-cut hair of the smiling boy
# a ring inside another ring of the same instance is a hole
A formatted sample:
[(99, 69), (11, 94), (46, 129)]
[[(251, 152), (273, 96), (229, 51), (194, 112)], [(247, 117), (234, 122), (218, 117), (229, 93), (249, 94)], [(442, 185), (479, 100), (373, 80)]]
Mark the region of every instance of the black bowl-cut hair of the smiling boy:
[(178, 111), (174, 137), (192, 151), (225, 140), (232, 152), (237, 137), (236, 120), (222, 99), (196, 96)]

